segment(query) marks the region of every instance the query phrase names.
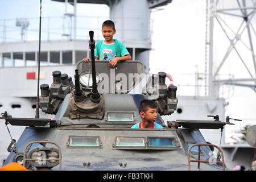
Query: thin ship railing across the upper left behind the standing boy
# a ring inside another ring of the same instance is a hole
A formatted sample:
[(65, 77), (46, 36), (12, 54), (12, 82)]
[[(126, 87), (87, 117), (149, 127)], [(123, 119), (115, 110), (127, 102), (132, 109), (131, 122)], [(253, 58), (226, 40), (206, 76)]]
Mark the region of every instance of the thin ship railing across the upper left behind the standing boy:
[[(108, 16), (42, 16), (42, 40), (89, 40), (89, 36), (84, 32), (94, 31), (94, 39), (101, 40), (102, 23), (109, 19)], [(123, 22), (123, 18), (114, 18), (117, 22)], [(152, 37), (152, 19), (146, 18), (126, 18), (129, 22), (140, 24), (144, 22), (143, 27), (126, 28), (116, 27), (118, 31), (118, 40), (133, 40), (151, 42)], [(21, 26), (17, 26), (17, 22)], [(76, 23), (75, 23), (76, 22)], [(22, 24), (23, 23), (23, 24)], [(24, 24), (26, 23), (26, 24)], [(16, 18), (0, 19), (0, 42), (26, 42), (38, 40), (39, 18)], [(134, 36), (138, 35), (138, 36)]]

